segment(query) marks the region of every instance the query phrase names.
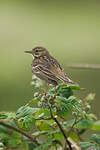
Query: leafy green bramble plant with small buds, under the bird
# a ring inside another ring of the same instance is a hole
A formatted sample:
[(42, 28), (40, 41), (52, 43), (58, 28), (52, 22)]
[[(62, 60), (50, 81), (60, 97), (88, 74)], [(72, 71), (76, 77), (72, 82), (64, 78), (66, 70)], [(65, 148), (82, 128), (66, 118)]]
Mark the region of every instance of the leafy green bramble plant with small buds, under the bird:
[(95, 94), (74, 96), (78, 86), (59, 84), (43, 92), (33, 78), (34, 97), (16, 112), (0, 112), (0, 150), (100, 150), (100, 135), (85, 140), (87, 130), (100, 131), (91, 113)]

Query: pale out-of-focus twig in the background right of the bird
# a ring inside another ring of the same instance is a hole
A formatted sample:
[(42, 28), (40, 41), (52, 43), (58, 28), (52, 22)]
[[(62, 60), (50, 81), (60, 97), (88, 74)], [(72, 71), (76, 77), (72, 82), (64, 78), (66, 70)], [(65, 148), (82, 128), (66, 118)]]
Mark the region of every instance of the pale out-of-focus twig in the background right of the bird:
[(68, 65), (69, 68), (72, 69), (97, 69), (100, 70), (100, 65), (96, 64), (71, 64)]

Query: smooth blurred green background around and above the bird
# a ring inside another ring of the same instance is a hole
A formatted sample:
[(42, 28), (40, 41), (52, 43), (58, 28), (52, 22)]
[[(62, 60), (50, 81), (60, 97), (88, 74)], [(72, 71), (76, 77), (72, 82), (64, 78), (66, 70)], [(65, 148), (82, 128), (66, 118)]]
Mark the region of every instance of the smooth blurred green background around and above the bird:
[(0, 110), (14, 111), (32, 99), (31, 61), (24, 50), (49, 49), (82, 95), (95, 92), (100, 118), (100, 70), (67, 68), (71, 63), (100, 64), (99, 0), (0, 0)]

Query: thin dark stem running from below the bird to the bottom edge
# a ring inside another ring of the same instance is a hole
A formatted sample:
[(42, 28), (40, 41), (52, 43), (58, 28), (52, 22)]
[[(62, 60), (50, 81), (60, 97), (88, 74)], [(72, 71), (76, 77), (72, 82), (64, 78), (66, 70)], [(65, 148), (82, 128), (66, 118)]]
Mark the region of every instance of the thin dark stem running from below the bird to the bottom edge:
[(64, 136), (64, 138), (65, 138), (66, 143), (67, 143), (68, 146), (69, 146), (69, 149), (70, 149), (70, 150), (73, 150), (72, 147), (71, 147), (71, 143), (70, 143), (70, 141), (68, 140), (68, 137), (66, 136), (66, 134), (65, 134), (65, 132), (64, 132), (63, 127), (61, 126), (61, 124), (59, 123), (59, 121), (53, 116), (51, 107), (49, 107), (49, 108), (50, 108), (51, 118), (57, 123), (57, 125), (58, 125), (60, 131), (62, 132), (62, 134), (63, 134), (63, 136)]

